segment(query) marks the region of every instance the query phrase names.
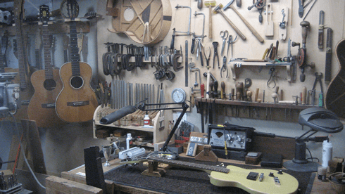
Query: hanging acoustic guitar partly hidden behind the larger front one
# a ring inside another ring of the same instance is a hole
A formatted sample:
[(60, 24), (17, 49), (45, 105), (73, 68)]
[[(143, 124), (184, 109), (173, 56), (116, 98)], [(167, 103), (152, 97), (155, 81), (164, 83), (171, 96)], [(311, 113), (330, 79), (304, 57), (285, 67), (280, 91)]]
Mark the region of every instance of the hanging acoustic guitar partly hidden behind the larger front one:
[(52, 127), (64, 123), (55, 111), (56, 97), (63, 84), (58, 74), (59, 70), (54, 69), (51, 63), (51, 35), (48, 29), (49, 7), (39, 6), (39, 14), (43, 22), (44, 70), (32, 73), (31, 83), (35, 93), (27, 108), (27, 114), (30, 120), (36, 121), (37, 127)]

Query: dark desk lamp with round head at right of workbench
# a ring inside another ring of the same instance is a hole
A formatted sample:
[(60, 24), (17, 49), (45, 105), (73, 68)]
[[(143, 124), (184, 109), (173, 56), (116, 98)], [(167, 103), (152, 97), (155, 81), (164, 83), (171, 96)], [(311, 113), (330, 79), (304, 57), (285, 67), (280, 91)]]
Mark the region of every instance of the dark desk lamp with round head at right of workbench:
[[(338, 133), (344, 125), (334, 112), (325, 108), (315, 107), (302, 110), (299, 114), (299, 124), (311, 127), (309, 131), (296, 138), (294, 159), (284, 162), (283, 166), (297, 172), (317, 172), (320, 164), (306, 160), (306, 141), (318, 131), (325, 133)], [(308, 136), (306, 136), (309, 134)]]

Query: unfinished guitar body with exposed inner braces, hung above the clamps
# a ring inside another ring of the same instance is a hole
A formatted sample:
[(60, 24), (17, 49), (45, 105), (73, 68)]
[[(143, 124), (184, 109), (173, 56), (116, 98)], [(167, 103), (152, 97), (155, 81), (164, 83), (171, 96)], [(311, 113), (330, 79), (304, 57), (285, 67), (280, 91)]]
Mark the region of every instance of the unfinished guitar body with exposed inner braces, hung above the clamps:
[(168, 0), (108, 0), (107, 15), (112, 15), (110, 32), (125, 33), (140, 44), (156, 44), (168, 34), (172, 10)]

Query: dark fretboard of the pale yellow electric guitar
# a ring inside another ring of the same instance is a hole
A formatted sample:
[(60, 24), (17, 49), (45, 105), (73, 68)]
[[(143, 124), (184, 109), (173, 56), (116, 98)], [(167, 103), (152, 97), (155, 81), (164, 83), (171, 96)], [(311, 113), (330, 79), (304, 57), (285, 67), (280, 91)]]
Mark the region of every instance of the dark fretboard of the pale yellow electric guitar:
[(172, 165), (180, 166), (180, 167), (188, 167), (191, 169), (201, 169), (201, 170), (204, 170), (206, 172), (209, 172), (209, 171), (223, 172), (223, 173), (229, 173), (230, 172), (230, 169), (227, 169), (225, 167), (210, 166), (210, 165), (206, 165), (206, 164), (196, 164), (196, 163), (192, 163), (192, 162), (183, 162), (180, 160), (168, 160), (168, 159), (161, 158), (161, 157), (148, 157), (147, 159), (153, 160), (156, 162), (162, 162), (165, 164), (172, 164)]

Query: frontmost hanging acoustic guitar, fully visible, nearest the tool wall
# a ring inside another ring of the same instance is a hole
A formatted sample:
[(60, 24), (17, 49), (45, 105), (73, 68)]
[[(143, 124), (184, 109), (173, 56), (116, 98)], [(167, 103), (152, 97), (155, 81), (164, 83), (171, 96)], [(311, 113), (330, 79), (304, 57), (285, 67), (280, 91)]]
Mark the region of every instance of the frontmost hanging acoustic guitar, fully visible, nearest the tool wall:
[[(56, 112), (65, 122), (87, 122), (94, 116), (98, 106), (96, 93), (90, 86), (92, 68), (89, 64), (80, 62), (77, 46), (77, 27), (74, 20), (77, 17), (77, 2), (63, 1), (61, 10), (68, 9), (70, 18), (70, 63), (60, 68), (63, 89), (56, 98)], [(65, 15), (66, 16), (66, 15)]]

